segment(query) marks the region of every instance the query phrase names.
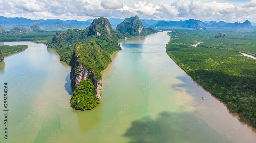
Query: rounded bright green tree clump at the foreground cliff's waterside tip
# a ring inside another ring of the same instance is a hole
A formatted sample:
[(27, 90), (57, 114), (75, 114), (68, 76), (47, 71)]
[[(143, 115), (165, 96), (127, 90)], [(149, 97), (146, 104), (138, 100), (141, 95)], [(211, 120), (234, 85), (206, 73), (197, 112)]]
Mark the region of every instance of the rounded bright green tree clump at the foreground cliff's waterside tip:
[(78, 110), (87, 110), (96, 107), (100, 102), (96, 94), (97, 89), (92, 84), (91, 79), (81, 81), (72, 93), (70, 99), (72, 108)]

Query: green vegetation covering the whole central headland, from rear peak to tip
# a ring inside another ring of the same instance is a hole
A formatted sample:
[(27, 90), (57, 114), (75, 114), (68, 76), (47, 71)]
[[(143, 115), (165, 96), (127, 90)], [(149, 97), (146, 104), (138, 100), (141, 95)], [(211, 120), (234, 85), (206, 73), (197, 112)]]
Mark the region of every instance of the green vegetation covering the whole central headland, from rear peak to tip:
[(112, 61), (110, 55), (121, 50), (118, 38), (109, 21), (101, 17), (94, 19), (88, 29), (68, 29), (65, 33), (56, 32), (56, 35), (48, 41), (47, 47), (55, 48), (60, 55), (60, 60), (72, 66), (70, 77), (78, 76), (82, 72), (76, 65), (79, 63), (86, 70), (92, 71), (89, 79), (77, 85), (70, 100), (71, 106), (79, 110), (92, 109), (97, 106), (100, 99), (96, 96), (95, 79), (100, 83), (100, 72)]

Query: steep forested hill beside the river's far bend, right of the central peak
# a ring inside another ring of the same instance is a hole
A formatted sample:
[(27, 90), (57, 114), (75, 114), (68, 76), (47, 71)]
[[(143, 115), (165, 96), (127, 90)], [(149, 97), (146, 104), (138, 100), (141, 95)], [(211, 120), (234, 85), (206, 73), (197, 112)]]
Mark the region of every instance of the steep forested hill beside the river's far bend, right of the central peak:
[(146, 36), (152, 33), (156, 33), (155, 30), (152, 28), (144, 28), (138, 16), (125, 18), (124, 21), (116, 27), (116, 34), (120, 39), (133, 36)]

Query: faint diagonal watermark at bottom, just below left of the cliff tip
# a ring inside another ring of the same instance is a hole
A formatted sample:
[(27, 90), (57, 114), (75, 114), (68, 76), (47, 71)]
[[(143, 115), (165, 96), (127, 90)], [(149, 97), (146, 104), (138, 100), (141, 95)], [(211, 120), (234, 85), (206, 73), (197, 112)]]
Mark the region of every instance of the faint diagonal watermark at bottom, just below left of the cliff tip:
[[(63, 121), (63, 124), (65, 126), (68, 126), (76, 117), (77, 117), (77, 114), (73, 113), (71, 117)], [(53, 139), (55, 139), (63, 131), (63, 129), (65, 129), (63, 125), (61, 125), (60, 128), (56, 128), (56, 131), (52, 132), (51, 136), (48, 137), (49, 141), (51, 142)]]

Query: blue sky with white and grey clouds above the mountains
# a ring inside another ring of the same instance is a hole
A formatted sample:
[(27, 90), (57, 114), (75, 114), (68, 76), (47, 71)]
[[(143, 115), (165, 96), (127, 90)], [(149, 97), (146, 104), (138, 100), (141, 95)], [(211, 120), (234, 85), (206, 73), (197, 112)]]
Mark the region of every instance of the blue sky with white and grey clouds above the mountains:
[(98, 17), (256, 22), (256, 0), (0, 0), (0, 16), (87, 20)]

